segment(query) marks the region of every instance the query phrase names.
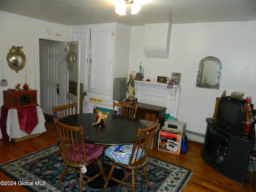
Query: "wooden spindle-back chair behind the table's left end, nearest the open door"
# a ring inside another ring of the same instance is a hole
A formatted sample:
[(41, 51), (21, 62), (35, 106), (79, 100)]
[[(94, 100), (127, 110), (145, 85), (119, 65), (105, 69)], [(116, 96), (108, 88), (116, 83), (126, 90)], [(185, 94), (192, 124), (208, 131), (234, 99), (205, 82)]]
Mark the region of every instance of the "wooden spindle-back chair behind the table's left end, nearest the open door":
[[(52, 106), (52, 112), (53, 112), (53, 117), (57, 118), (57, 120), (60, 120), (60, 118), (63, 118), (65, 116), (68, 115), (73, 115), (73, 114), (77, 114), (77, 107), (76, 107), (76, 102), (72, 103), (72, 104), (66, 104), (66, 105), (61, 105), (61, 106)], [(59, 138), (58, 138), (58, 145), (60, 146), (58, 154), (54, 160), (54, 164), (57, 163), (58, 158), (60, 156), (60, 152), (62, 151), (62, 146), (59, 142)]]

